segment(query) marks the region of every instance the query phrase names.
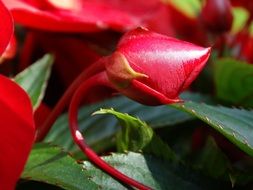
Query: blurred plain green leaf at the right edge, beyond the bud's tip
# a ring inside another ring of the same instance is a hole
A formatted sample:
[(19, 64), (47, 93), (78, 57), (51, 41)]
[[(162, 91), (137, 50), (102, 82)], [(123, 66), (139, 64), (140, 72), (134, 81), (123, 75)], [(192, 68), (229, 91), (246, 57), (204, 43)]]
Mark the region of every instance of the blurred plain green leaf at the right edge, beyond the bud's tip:
[(215, 64), (215, 85), (221, 100), (253, 107), (253, 65), (234, 59)]

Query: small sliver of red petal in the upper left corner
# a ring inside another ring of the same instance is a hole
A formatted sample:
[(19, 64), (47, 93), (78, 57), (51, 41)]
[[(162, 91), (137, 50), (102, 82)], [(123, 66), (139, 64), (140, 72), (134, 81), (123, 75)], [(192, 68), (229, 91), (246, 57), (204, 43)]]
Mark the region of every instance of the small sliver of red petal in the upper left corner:
[(0, 1), (0, 56), (7, 47), (12, 33), (13, 33), (13, 22), (9, 11), (4, 7)]

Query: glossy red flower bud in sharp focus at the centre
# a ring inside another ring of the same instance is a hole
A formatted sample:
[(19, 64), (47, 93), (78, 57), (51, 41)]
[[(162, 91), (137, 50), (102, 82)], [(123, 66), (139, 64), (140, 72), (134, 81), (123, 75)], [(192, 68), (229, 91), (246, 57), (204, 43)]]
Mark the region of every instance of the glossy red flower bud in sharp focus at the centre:
[(106, 64), (108, 78), (124, 95), (144, 104), (179, 102), (203, 69), (210, 48), (138, 28), (126, 33)]

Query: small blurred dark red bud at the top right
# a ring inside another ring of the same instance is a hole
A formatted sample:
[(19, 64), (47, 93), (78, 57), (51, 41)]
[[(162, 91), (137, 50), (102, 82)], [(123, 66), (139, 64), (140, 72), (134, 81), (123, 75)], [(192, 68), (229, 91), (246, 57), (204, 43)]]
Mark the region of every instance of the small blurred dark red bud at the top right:
[(206, 0), (201, 13), (205, 27), (216, 33), (229, 31), (233, 15), (229, 0)]

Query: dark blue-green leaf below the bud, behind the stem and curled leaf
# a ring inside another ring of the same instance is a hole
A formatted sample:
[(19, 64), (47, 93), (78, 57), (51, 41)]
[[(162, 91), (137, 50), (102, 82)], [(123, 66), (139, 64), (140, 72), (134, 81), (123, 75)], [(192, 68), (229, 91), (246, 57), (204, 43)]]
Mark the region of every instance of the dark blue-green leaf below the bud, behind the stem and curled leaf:
[[(184, 93), (182, 98), (210, 102), (208, 97), (199, 94)], [(120, 129), (113, 117), (90, 116), (100, 108), (111, 108), (112, 106), (120, 112), (129, 113), (141, 118), (152, 128), (173, 126), (194, 119), (189, 114), (174, 108), (168, 108), (168, 106), (150, 107), (136, 103), (126, 97), (113, 98), (91, 106), (84, 106), (79, 111), (80, 130), (85, 134), (87, 143), (92, 147), (103, 149), (106, 144), (110, 146), (112, 144), (110, 141), (113, 140), (111, 136)], [(56, 121), (45, 141), (64, 147), (64, 149), (70, 152), (77, 151), (77, 147), (73, 143), (69, 132), (67, 114), (63, 114)]]

